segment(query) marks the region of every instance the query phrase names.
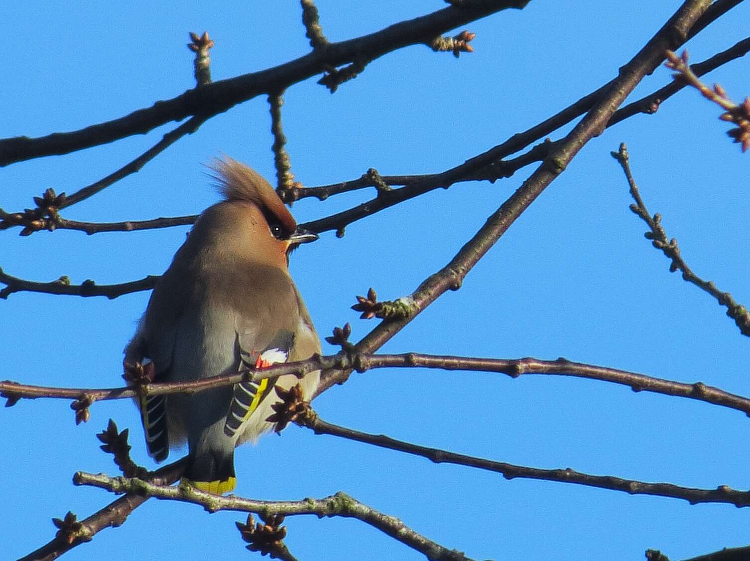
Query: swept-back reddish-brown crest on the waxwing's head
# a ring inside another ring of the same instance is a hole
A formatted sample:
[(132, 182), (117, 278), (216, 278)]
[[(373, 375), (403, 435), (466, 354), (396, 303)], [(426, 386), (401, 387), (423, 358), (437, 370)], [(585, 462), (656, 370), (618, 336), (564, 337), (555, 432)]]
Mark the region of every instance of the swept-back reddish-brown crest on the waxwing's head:
[(214, 178), (226, 200), (253, 202), (264, 212), (272, 214), (289, 233), (297, 229), (292, 213), (281, 202), (271, 184), (254, 169), (227, 156), (215, 160), (211, 169), (217, 172)]

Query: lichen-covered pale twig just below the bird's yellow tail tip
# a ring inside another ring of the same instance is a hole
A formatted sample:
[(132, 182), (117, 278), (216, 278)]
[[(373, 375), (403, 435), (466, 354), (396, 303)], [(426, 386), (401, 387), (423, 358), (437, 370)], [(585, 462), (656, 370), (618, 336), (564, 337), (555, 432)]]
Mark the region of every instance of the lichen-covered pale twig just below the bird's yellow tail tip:
[(463, 553), (449, 550), (434, 541), (425, 538), (413, 529), (406, 526), (396, 517), (383, 514), (362, 504), (346, 493), (336, 493), (325, 499), (303, 499), (300, 501), (263, 501), (243, 499), (239, 496), (219, 496), (205, 493), (190, 487), (188, 484), (180, 484), (177, 487), (151, 484), (137, 478), (108, 477), (103, 473), (93, 474), (76, 472), (73, 478), (74, 484), (90, 485), (109, 490), (112, 493), (136, 493), (143, 496), (152, 496), (156, 499), (176, 500), (181, 502), (192, 502), (202, 505), (209, 512), (222, 510), (239, 512), (256, 512), (258, 514), (281, 514), (293, 516), (296, 514), (315, 514), (318, 517), (341, 516), (356, 518), (368, 523), (374, 528), (380, 529), (401, 543), (413, 547), (413, 549), (424, 553), (428, 559), (445, 559), (445, 561), (470, 561)]

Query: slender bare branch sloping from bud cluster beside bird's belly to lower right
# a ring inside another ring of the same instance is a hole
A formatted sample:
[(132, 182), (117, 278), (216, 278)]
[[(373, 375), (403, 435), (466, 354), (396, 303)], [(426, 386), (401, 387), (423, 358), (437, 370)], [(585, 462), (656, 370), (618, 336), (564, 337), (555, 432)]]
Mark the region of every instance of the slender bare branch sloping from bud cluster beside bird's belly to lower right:
[(485, 460), (484, 458), (455, 454), (446, 450), (417, 446), (416, 444), (386, 437), (383, 434), (368, 434), (353, 431), (349, 428), (331, 425), (321, 419), (309, 421), (308, 425), (315, 431), (315, 434), (331, 434), (335, 437), (356, 440), (361, 443), (380, 446), (381, 448), (398, 450), (398, 452), (406, 452), (407, 454), (428, 458), (435, 463), (455, 463), (460, 466), (486, 469), (487, 471), (501, 473), (506, 479), (515, 477), (541, 479), (544, 481), (558, 481), (560, 483), (574, 483), (589, 487), (599, 487), (601, 489), (619, 490), (631, 495), (667, 496), (674, 499), (685, 499), (691, 505), (698, 502), (727, 502), (737, 507), (750, 506), (750, 492), (734, 490), (726, 485), (720, 485), (715, 489), (696, 489), (692, 487), (679, 487), (670, 483), (645, 483), (643, 481), (634, 481), (633, 479), (613, 477), (612, 475), (590, 475), (574, 471), (570, 468), (538, 469), (535, 467), (516, 466), (512, 463), (496, 462)]

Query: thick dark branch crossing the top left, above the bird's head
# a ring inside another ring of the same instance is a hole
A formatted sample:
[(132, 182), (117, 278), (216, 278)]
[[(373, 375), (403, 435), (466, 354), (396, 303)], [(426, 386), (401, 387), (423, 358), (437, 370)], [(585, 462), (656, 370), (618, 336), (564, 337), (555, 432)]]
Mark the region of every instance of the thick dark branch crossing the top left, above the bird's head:
[(510, 7), (523, 7), (527, 1), (465, 0), (460, 7), (446, 7), (356, 39), (329, 43), (284, 65), (202, 85), (176, 98), (157, 101), (147, 109), (134, 111), (113, 121), (38, 138), (17, 136), (1, 139), (0, 166), (34, 157), (68, 154), (133, 134), (145, 134), (169, 121), (181, 121), (191, 115), (210, 118), (257, 95), (280, 92), (292, 84), (323, 74), (329, 67), (345, 65), (355, 59), (373, 60), (404, 46), (427, 43), (437, 35), (490, 13)]

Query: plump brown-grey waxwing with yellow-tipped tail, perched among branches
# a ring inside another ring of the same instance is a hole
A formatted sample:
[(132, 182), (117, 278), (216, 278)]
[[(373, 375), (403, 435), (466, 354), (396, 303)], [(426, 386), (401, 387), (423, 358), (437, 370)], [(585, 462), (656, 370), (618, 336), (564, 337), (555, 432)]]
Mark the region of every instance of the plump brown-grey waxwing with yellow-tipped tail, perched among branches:
[[(317, 239), (273, 187), (229, 158), (213, 169), (224, 200), (207, 208), (157, 282), (124, 365), (154, 382), (184, 382), (308, 359), (320, 340), (287, 268), (290, 251)], [(148, 454), (187, 441), (185, 478), (211, 493), (235, 487), (234, 449), (272, 428), (275, 386), (298, 382), (310, 399), (320, 371), (195, 394), (139, 400)]]

